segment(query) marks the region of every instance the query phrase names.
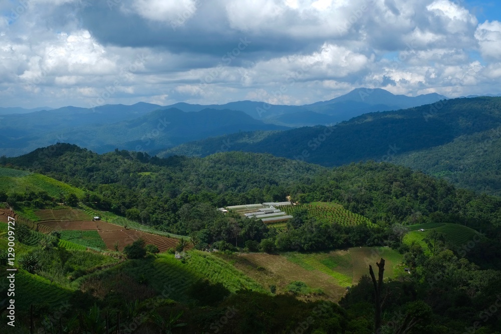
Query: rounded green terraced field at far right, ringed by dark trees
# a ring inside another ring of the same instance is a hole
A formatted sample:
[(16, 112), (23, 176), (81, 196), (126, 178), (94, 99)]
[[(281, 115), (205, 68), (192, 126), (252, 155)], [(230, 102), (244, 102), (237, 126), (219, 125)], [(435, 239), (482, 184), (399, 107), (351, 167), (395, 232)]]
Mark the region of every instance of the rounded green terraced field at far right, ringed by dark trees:
[[(424, 231), (419, 231), (419, 229)], [(451, 223), (428, 223), (409, 226), (410, 231), (407, 232), (403, 238), (403, 242), (410, 245), (413, 242), (419, 243), (424, 249), (427, 249), (424, 238), (431, 233), (437, 231), (445, 236), (446, 242), (454, 246), (461, 246), (468, 241), (473, 241), (477, 236), (483, 238), (477, 231), (464, 225), (451, 224)]]

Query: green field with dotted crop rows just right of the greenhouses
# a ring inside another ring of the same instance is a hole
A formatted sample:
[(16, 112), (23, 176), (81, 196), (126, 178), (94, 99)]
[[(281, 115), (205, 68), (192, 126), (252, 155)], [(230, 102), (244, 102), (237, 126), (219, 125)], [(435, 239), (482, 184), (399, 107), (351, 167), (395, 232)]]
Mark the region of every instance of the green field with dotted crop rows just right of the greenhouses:
[(359, 224), (373, 225), (366, 217), (344, 209), (341, 204), (332, 202), (314, 202), (294, 206), (288, 205), (281, 208), (292, 216), (294, 216), (295, 212), (300, 208), (306, 208), (310, 218), (315, 218), (317, 221), (323, 223), (336, 223), (342, 226), (354, 226)]

